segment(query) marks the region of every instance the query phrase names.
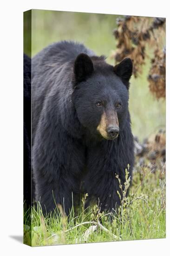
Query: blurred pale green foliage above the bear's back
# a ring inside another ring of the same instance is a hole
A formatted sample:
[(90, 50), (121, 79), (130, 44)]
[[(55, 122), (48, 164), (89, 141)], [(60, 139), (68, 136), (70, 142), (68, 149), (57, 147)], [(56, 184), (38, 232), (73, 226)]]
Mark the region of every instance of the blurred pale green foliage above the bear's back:
[(60, 40), (74, 40), (92, 48), (96, 54), (109, 56), (115, 42), (112, 29), (117, 15), (32, 11), (32, 56)]

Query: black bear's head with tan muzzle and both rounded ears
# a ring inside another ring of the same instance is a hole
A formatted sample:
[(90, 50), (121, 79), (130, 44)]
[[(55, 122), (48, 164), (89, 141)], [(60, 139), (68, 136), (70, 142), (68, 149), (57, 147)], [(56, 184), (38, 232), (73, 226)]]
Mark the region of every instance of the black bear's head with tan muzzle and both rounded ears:
[(79, 122), (95, 137), (113, 140), (123, 130), (128, 118), (132, 67), (129, 58), (113, 67), (103, 56), (77, 56), (72, 102)]

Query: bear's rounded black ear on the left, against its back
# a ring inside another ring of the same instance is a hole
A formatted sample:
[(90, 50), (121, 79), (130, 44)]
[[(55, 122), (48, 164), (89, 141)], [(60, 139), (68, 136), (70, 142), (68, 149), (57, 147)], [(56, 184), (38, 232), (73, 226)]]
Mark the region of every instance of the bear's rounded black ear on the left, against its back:
[(87, 54), (79, 54), (74, 61), (74, 74), (76, 81), (84, 81), (94, 71), (91, 58)]

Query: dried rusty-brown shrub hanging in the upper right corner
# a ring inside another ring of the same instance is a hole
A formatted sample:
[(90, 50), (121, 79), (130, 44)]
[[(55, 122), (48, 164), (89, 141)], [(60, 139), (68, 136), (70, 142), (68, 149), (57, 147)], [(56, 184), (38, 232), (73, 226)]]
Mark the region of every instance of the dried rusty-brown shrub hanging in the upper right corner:
[(142, 74), (146, 47), (154, 51), (148, 76), (150, 91), (158, 98), (165, 97), (165, 49), (161, 44), (165, 37), (165, 18), (124, 16), (117, 19), (118, 28), (113, 30), (118, 40), (117, 50), (112, 53), (116, 62), (130, 57), (135, 78)]

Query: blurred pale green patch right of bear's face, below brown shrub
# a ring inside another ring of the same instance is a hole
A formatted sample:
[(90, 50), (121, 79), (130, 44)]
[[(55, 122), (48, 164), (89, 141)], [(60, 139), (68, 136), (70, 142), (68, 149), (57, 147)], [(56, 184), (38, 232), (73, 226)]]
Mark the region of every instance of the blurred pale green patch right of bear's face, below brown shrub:
[(131, 79), (129, 108), (133, 135), (140, 140), (147, 138), (159, 128), (165, 128), (166, 104), (164, 99), (158, 101), (150, 93), (147, 74), (150, 64), (143, 68), (143, 74)]

